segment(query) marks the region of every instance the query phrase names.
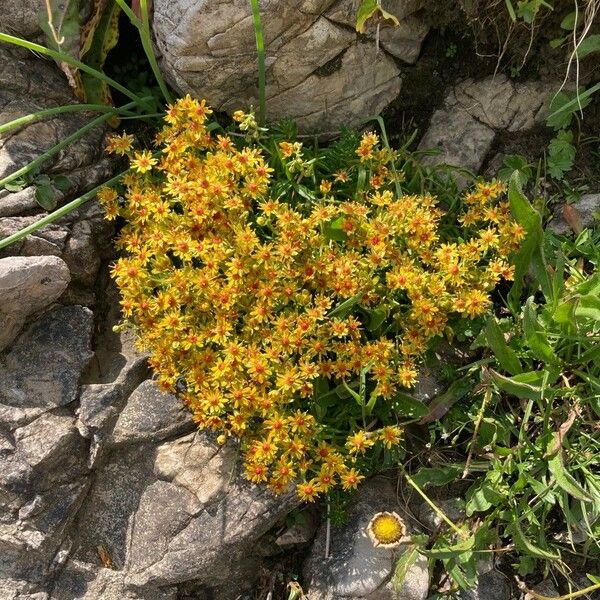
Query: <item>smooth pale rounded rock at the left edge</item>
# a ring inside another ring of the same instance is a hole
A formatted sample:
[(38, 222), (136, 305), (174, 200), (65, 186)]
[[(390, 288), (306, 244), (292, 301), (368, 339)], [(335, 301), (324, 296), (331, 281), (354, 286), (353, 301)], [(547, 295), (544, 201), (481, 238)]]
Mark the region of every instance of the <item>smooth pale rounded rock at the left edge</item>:
[(16, 337), (27, 318), (57, 300), (70, 275), (56, 256), (0, 259), (0, 350)]

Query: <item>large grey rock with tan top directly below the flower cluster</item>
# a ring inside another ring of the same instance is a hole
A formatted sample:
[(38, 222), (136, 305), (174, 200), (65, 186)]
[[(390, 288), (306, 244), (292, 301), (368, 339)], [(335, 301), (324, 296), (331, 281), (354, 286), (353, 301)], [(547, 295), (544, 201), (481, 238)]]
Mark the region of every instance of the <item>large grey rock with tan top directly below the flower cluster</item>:
[[(188, 460), (173, 459), (174, 454), (188, 452), (208, 458), (198, 458), (203, 460), (199, 465), (187, 455)], [(181, 462), (183, 468), (178, 468)], [(238, 465), (232, 469), (234, 464), (232, 448), (217, 446), (205, 434), (187, 436), (181, 445), (166, 442), (158, 447), (155, 471), (169, 481), (148, 486), (140, 498), (127, 561), (130, 585), (243, 585), (238, 573), (245, 556), (298, 499), (293, 490), (277, 497), (265, 486), (248, 483)], [(252, 581), (245, 584), (251, 586)]]

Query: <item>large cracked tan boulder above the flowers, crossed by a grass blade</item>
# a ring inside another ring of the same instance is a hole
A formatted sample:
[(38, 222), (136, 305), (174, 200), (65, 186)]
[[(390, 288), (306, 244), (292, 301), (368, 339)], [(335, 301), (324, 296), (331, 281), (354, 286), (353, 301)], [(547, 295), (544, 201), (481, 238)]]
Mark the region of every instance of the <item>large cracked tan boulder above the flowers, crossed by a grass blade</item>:
[[(396, 0), (398, 28), (383, 28), (377, 53), (374, 27), (354, 31), (357, 0), (268, 0), (261, 4), (266, 46), (267, 114), (291, 117), (318, 133), (359, 124), (400, 89), (387, 53), (412, 63), (427, 34), (417, 11), (424, 3)], [(182, 93), (205, 97), (217, 110), (258, 104), (254, 27), (244, 0), (227, 3), (155, 0), (154, 28), (161, 67)]]

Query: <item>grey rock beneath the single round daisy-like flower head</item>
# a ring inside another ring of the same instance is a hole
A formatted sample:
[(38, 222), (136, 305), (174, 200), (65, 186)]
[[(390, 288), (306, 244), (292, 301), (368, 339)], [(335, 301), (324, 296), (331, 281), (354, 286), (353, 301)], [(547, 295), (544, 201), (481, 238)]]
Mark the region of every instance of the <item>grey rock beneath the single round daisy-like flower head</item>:
[[(396, 595), (393, 586), (388, 585), (398, 551), (375, 548), (366, 533), (366, 527), (376, 513), (393, 511), (396, 506), (396, 491), (392, 483), (383, 477), (375, 477), (363, 482), (353, 498), (347, 524), (332, 528), (329, 558), (324, 558), (326, 525), (321, 526), (304, 565), (307, 595), (311, 600), (395, 600), (409, 597)], [(411, 598), (423, 600), (426, 597), (429, 587), (426, 571), (422, 561), (411, 570), (406, 584), (406, 592), (411, 590), (410, 593), (414, 594)]]

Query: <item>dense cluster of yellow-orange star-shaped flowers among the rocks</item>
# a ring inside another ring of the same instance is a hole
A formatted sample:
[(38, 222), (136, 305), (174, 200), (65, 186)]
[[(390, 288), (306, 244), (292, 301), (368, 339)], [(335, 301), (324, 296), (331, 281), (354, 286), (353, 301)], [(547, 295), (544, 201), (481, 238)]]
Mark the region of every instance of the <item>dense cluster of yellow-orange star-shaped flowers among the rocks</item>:
[[(281, 142), (269, 161), (258, 143), (212, 134), (210, 113), (179, 100), (155, 153), (109, 142), (131, 164), (123, 199), (99, 194), (125, 221), (113, 267), (123, 315), (198, 426), (241, 440), (249, 480), (295, 484), (308, 501), (354, 488), (370, 449), (399, 444), (389, 403), (415, 383), (428, 342), (451, 316), (488, 309), (524, 232), (492, 182), (466, 197), (461, 237), (447, 239), (434, 197), (392, 191), (401, 178), (374, 133), (354, 166), (300, 194), (299, 178), (314, 178), (302, 144)], [(358, 168), (366, 183), (349, 193)], [(289, 184), (278, 194), (275, 169)], [(387, 419), (365, 420), (374, 406)]]

